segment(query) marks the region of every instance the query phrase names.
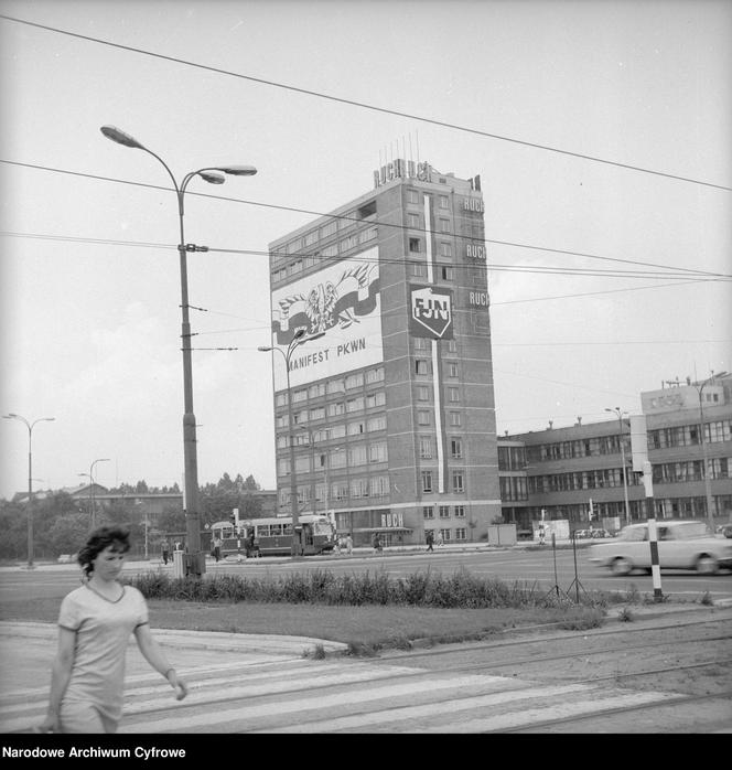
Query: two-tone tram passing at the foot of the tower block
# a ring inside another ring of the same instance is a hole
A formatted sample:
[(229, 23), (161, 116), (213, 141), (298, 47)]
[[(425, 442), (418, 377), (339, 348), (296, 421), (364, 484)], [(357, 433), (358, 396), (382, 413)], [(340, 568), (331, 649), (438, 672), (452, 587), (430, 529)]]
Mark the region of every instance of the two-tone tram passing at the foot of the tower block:
[[(302, 527), (303, 555), (314, 556), (333, 550), (335, 525), (324, 514), (304, 513), (298, 517)], [(216, 522), (212, 537), (222, 538), (222, 558), (227, 556), (289, 556), (292, 550), (292, 516), (269, 516), (232, 522)]]

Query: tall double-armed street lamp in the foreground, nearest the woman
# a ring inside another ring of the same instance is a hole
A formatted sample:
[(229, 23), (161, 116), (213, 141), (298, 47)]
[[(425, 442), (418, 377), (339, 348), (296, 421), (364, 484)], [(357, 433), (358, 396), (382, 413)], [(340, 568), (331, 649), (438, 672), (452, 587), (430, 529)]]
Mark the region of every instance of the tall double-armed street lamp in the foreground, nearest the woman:
[(194, 177), (201, 177), (209, 184), (223, 184), (226, 180), (222, 174), (216, 173), (222, 171), (225, 174), (234, 177), (251, 177), (257, 173), (254, 165), (215, 165), (191, 171), (179, 185), (175, 181), (173, 172), (168, 168), (165, 161), (160, 156), (149, 150), (141, 145), (137, 139), (129, 133), (121, 131), (115, 126), (103, 126), (99, 129), (107, 139), (110, 139), (122, 147), (130, 147), (137, 150), (143, 150), (158, 160), (168, 174), (170, 175), (175, 195), (177, 196), (177, 217), (180, 225), (181, 239), (177, 246), (180, 263), (181, 263), (181, 312), (182, 312), (182, 329), (181, 342), (183, 351), (183, 463), (184, 463), (184, 505), (185, 505), (185, 528), (189, 544), (189, 553), (191, 562), (189, 563), (190, 571), (196, 576), (201, 576), (205, 571), (205, 560), (201, 554), (201, 524), (198, 514), (198, 463), (196, 458), (196, 419), (193, 414), (193, 367), (191, 362), (191, 324), (189, 321), (189, 278), (186, 255), (189, 252), (207, 252), (207, 246), (196, 246), (195, 244), (185, 243), (185, 234), (183, 229), (183, 196), (189, 182)]

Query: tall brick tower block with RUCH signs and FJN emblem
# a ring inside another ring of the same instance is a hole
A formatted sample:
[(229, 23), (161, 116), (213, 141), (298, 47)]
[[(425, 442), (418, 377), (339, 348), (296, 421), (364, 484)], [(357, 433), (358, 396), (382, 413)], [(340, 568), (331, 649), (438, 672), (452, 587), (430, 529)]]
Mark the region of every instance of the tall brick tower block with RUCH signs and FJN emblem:
[[(280, 513), (292, 435), (300, 511), (332, 511), (356, 545), (485, 539), (500, 498), (480, 178), (396, 160), (269, 253)], [(324, 335), (293, 347), (301, 329)]]

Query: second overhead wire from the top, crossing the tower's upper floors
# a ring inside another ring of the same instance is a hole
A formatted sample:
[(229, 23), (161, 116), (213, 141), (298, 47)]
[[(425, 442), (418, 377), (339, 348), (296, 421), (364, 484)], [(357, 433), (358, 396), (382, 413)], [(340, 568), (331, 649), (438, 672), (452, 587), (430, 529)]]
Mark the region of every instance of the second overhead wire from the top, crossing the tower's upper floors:
[[(126, 179), (119, 179), (115, 177), (104, 177), (100, 174), (90, 174), (90, 173), (85, 173), (82, 171), (71, 171), (68, 169), (57, 169), (49, 165), (40, 165), (36, 163), (23, 163), (21, 161), (14, 161), (14, 160), (7, 160), (7, 159), (0, 159), (0, 163), (7, 163), (9, 165), (17, 165), (20, 168), (26, 168), (26, 169), (35, 169), (39, 171), (47, 171), (51, 173), (60, 173), (60, 174), (67, 174), (71, 177), (80, 177), (83, 179), (93, 179), (97, 181), (103, 181), (103, 182), (115, 182), (119, 184), (129, 184), (131, 186), (137, 186), (137, 188), (146, 188), (149, 190), (164, 190), (168, 192), (173, 192), (171, 188), (166, 188), (164, 185), (160, 184), (149, 184), (147, 182), (133, 182), (130, 180)], [(209, 193), (202, 193), (202, 192), (195, 192), (195, 191), (187, 191), (186, 194), (189, 195), (197, 195), (200, 197), (208, 197), (212, 200), (216, 201), (227, 201), (229, 203), (243, 203), (245, 205), (249, 206), (259, 206), (262, 208), (276, 208), (278, 211), (289, 211), (289, 212), (295, 212), (299, 214), (309, 214), (311, 216), (316, 216), (316, 217), (330, 217), (333, 220), (345, 220), (349, 222), (358, 222), (360, 224), (364, 224), (364, 220), (359, 220), (357, 217), (353, 216), (347, 216), (345, 214), (324, 214), (323, 212), (316, 212), (308, 208), (297, 208), (294, 206), (284, 206), (281, 204), (276, 204), (276, 203), (262, 203), (260, 201), (248, 201), (245, 199), (240, 197), (229, 197), (227, 195), (212, 195)], [(396, 224), (396, 223), (388, 223), (388, 222), (378, 222), (375, 223), (379, 227), (394, 227), (397, 229), (401, 231), (410, 231), (410, 232), (418, 232), (418, 233), (423, 233), (426, 235), (437, 235), (437, 236), (449, 236), (453, 238), (459, 238), (463, 240), (478, 240), (478, 238), (472, 237), (472, 236), (466, 236), (466, 235), (460, 235), (460, 234), (448, 234), (448, 233), (441, 233), (439, 231), (428, 231), (424, 228), (415, 228), (415, 227), (408, 227), (407, 225), (402, 224)], [(581, 257), (584, 259), (598, 259), (602, 261), (612, 261), (612, 263), (618, 263), (618, 264), (624, 264), (624, 265), (639, 265), (643, 267), (654, 267), (654, 268), (659, 268), (663, 270), (676, 270), (676, 271), (682, 271), (682, 272), (688, 272), (690, 275), (695, 276), (710, 276), (710, 277), (717, 277), (717, 278), (732, 278), (732, 274), (724, 274), (724, 272), (711, 272), (711, 271), (706, 271), (706, 270), (697, 270), (693, 268), (688, 268), (688, 267), (670, 267), (668, 265), (659, 265), (657, 263), (648, 263), (648, 261), (642, 261), (637, 259), (621, 259), (618, 257), (603, 257), (601, 255), (596, 254), (589, 254), (585, 252), (571, 252), (569, 249), (559, 249), (559, 248), (551, 248), (549, 246), (535, 246), (531, 244), (520, 244), (517, 242), (513, 240), (498, 240), (496, 238), (486, 238), (483, 237), (480, 240), (483, 243), (487, 244), (494, 244), (496, 246), (509, 246), (513, 248), (524, 248), (524, 249), (529, 249), (529, 250), (535, 250), (535, 252), (547, 252), (550, 254), (562, 254), (566, 256), (572, 256), (572, 257)], [(248, 252), (243, 252), (241, 249), (226, 249), (226, 248), (214, 248), (209, 247), (209, 252), (219, 252), (222, 254), (238, 254), (238, 253), (248, 253)], [(290, 255), (281, 255), (281, 256), (289, 256), (292, 258), (297, 257), (315, 257), (317, 256), (321, 259), (326, 259), (326, 257), (322, 257), (317, 252), (298, 252), (293, 253)], [(337, 257), (336, 259), (340, 259), (341, 257)]]

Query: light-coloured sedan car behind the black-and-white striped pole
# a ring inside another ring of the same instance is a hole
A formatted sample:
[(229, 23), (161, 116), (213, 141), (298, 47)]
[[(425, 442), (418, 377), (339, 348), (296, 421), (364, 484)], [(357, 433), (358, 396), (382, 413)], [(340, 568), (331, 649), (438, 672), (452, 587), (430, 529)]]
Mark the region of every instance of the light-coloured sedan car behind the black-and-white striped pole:
[[(696, 569), (713, 575), (720, 568), (732, 568), (732, 543), (708, 535), (703, 522), (665, 521), (656, 525), (656, 531), (661, 569)], [(612, 542), (591, 545), (588, 556), (591, 564), (610, 567), (614, 575), (650, 570), (648, 524), (623, 527)]]

